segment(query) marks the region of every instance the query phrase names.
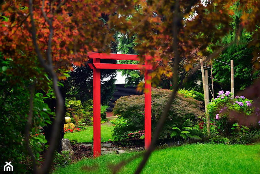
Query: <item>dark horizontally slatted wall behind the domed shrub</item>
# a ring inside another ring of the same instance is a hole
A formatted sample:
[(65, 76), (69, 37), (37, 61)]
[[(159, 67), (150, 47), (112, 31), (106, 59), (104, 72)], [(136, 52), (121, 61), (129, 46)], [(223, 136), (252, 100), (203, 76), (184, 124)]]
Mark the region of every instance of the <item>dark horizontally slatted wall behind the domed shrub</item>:
[(112, 112), (112, 109), (114, 108), (114, 102), (122, 97), (122, 96), (130, 96), (130, 95), (142, 95), (144, 94), (144, 91), (138, 92), (137, 91), (137, 85), (133, 86), (127, 86), (125, 87), (125, 84), (116, 84), (116, 89), (114, 91), (114, 99), (113, 100), (109, 100), (108, 106), (109, 108), (107, 108), (107, 112)]

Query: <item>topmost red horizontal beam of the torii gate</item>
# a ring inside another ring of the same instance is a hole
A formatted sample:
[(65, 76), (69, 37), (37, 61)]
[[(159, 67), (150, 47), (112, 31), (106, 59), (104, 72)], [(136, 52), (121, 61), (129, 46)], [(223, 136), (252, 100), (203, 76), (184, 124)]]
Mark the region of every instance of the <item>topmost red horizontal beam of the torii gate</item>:
[[(139, 61), (138, 55), (136, 54), (115, 54), (115, 53), (93, 53), (88, 52), (89, 58), (100, 58), (100, 59), (113, 59), (113, 60), (129, 60), (129, 61)], [(154, 56), (156, 61), (160, 61), (159, 56)], [(145, 60), (152, 60), (153, 56), (145, 56)]]

